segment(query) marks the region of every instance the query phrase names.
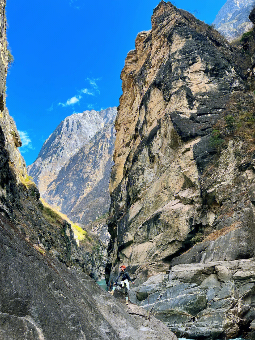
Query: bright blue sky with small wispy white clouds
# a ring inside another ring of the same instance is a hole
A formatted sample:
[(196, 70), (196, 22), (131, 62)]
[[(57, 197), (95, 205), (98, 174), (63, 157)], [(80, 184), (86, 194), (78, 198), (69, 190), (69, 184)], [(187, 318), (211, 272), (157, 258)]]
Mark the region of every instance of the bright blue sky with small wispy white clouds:
[[(136, 35), (151, 28), (159, 0), (7, 0), (7, 39), (15, 63), (6, 104), (29, 165), (65, 117), (118, 106), (120, 73)], [(176, 0), (211, 23), (225, 0)]]

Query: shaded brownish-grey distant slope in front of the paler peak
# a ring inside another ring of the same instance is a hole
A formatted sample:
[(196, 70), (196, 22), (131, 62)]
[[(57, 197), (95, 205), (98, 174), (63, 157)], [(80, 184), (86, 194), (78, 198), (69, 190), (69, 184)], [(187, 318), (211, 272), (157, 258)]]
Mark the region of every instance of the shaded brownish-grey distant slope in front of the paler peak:
[(75, 222), (87, 224), (108, 212), (114, 120), (115, 116), (69, 159), (44, 193), (48, 203)]

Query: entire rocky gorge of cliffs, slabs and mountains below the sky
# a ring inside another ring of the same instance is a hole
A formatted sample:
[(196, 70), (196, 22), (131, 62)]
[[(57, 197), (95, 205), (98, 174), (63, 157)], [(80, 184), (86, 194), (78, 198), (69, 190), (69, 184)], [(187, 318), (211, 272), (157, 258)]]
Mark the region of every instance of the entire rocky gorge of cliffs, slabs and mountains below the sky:
[[(5, 4), (0, 339), (255, 339), (253, 4), (227, 0), (221, 35), (161, 1), (120, 105), (66, 117), (28, 169), (6, 108)], [(112, 289), (123, 264), (128, 306), (95, 282)]]

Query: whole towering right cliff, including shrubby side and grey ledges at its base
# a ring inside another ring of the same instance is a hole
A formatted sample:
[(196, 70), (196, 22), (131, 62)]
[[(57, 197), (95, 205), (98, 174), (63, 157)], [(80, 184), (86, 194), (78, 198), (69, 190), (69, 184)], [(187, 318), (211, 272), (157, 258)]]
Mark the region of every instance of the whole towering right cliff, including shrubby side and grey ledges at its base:
[(151, 23), (121, 73), (108, 283), (124, 262), (178, 336), (237, 336), (255, 319), (251, 58), (169, 2)]

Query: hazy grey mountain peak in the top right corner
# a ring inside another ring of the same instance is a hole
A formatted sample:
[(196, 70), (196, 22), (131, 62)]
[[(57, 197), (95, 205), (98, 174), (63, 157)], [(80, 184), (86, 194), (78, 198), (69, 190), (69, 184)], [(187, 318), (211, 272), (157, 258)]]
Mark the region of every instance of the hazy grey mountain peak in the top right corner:
[(254, 0), (227, 0), (213, 22), (227, 40), (231, 41), (252, 29), (249, 14), (254, 7)]

